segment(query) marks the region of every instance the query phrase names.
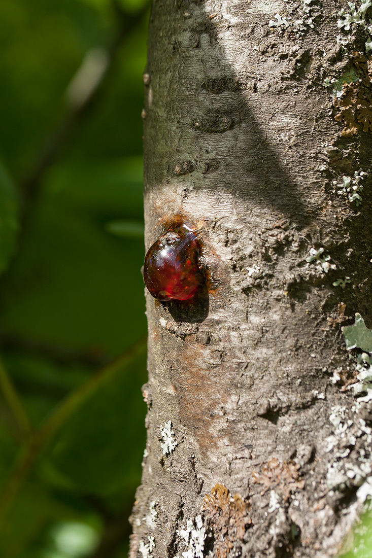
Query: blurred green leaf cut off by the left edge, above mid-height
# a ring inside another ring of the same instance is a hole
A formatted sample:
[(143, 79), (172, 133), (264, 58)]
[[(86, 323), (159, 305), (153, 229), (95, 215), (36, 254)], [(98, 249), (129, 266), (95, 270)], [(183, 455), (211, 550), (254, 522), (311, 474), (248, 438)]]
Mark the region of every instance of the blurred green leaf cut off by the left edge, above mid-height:
[(18, 208), (16, 189), (0, 163), (0, 273), (6, 270), (16, 247)]

